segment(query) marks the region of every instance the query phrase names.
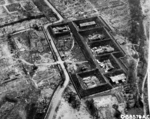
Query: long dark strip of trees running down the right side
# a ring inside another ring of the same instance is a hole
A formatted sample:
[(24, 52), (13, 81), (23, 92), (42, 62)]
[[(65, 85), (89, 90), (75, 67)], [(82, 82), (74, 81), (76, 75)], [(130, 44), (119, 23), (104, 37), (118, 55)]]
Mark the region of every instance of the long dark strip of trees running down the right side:
[[(128, 72), (128, 84), (132, 84), (131, 88), (133, 88), (134, 91), (137, 92), (135, 100), (136, 100), (136, 106), (137, 107), (143, 107), (143, 103), (141, 101), (140, 95), (141, 95), (141, 86), (144, 79), (144, 76), (146, 75), (146, 69), (147, 69), (147, 62), (146, 62), (146, 50), (145, 42), (146, 38), (144, 35), (144, 28), (143, 28), (143, 14), (141, 10), (140, 0), (129, 0), (130, 5), (130, 14), (131, 14), (131, 33), (129, 33), (129, 40), (133, 44), (138, 44), (138, 48), (136, 49), (138, 51), (139, 62), (135, 62), (134, 60), (130, 62), (129, 64), (129, 72)], [(134, 57), (133, 57), (134, 58)], [(136, 58), (134, 58), (136, 59)], [(138, 64), (136, 64), (138, 63)], [(138, 67), (136, 67), (138, 66)], [(137, 84), (136, 84), (137, 83)]]

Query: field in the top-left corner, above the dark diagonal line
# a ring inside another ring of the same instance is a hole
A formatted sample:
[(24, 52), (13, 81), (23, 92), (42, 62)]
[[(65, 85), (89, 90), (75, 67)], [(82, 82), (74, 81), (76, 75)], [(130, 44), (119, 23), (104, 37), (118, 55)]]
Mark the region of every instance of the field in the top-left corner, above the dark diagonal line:
[(50, 22), (55, 22), (58, 20), (57, 15), (51, 10), (51, 8), (43, 11), (43, 7), (47, 6), (39, 6), (39, 4), (40, 3), (35, 5), (34, 2), (30, 0), (5, 1), (5, 4), (2, 4), (0, 6), (0, 27), (13, 25), (13, 23), (23, 22), (26, 20), (29, 21), (37, 18), (46, 18)]

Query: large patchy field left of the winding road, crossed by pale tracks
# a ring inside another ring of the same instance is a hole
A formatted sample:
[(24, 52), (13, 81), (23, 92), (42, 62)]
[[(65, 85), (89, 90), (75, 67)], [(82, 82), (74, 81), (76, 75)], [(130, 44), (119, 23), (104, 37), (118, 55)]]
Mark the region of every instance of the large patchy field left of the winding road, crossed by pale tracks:
[(20, 118), (21, 115), (35, 116), (34, 119), (39, 115), (43, 117), (53, 91), (62, 81), (61, 69), (54, 63), (45, 35), (37, 32), (27, 30), (1, 39), (2, 119)]

